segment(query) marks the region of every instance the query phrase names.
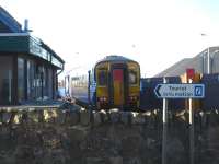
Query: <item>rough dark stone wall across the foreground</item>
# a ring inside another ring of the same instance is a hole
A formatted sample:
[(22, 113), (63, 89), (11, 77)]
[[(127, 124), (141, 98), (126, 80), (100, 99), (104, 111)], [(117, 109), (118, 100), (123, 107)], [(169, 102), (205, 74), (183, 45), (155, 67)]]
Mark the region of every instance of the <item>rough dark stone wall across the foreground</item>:
[[(216, 110), (217, 112), (217, 110)], [(195, 163), (219, 163), (219, 115), (195, 114)], [(184, 110), (169, 113), (168, 163), (188, 163)], [(0, 164), (160, 164), (162, 113), (0, 110)]]

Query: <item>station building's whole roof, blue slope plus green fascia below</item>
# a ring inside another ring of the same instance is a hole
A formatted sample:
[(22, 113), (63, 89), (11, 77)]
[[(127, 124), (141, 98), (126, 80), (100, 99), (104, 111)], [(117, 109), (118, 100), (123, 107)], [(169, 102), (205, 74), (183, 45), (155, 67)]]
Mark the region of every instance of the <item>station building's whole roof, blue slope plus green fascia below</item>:
[(65, 61), (43, 40), (23, 31), (21, 24), (1, 7), (0, 52), (30, 54), (64, 69)]

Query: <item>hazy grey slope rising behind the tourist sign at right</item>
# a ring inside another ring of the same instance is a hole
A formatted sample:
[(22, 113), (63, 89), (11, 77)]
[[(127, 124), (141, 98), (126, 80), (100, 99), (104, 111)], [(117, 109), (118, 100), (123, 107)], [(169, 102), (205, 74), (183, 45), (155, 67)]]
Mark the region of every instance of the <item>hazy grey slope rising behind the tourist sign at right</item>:
[(187, 68), (194, 68), (203, 74), (219, 73), (219, 47), (209, 47), (194, 58), (185, 58), (165, 69), (158, 77), (176, 77), (185, 73)]

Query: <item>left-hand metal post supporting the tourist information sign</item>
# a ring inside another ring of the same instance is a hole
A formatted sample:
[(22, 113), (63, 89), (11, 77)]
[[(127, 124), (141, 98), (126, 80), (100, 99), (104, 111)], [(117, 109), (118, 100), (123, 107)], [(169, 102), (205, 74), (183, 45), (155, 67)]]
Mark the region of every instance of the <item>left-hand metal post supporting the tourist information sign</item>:
[[(168, 80), (163, 78), (163, 83), (168, 83)], [(168, 99), (163, 98), (163, 138), (162, 138), (162, 164), (166, 162), (166, 142), (168, 142)]]

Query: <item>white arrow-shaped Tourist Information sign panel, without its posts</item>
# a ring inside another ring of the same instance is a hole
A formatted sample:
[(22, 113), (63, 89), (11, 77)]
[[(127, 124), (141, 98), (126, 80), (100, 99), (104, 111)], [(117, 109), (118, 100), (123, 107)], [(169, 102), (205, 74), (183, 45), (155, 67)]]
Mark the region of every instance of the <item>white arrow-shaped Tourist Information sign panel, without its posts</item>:
[(204, 84), (158, 84), (154, 89), (158, 98), (204, 98)]

